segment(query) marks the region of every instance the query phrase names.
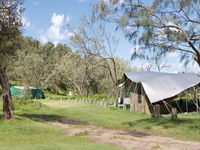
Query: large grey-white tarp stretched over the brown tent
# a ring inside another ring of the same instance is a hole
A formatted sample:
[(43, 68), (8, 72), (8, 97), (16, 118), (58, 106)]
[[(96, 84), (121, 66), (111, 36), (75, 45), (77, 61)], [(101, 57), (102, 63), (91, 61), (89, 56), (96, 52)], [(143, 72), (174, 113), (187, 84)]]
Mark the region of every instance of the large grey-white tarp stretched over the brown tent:
[(125, 76), (135, 83), (141, 83), (151, 103), (173, 97), (200, 83), (200, 77), (193, 73), (176, 74), (161, 72), (126, 72)]

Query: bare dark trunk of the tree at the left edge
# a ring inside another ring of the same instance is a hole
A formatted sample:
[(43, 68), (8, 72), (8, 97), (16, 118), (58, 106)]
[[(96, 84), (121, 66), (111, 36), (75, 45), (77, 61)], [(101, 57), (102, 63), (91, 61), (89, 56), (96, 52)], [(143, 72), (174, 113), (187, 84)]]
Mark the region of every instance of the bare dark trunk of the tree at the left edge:
[(6, 76), (6, 69), (2, 66), (0, 66), (0, 84), (2, 87), (4, 119), (8, 120), (13, 118), (12, 98), (10, 93), (10, 85)]

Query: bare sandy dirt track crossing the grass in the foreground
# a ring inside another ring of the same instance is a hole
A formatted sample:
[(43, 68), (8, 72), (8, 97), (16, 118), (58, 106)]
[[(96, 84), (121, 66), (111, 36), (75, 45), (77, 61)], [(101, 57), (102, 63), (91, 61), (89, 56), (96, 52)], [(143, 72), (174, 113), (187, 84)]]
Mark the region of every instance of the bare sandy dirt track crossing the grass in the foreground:
[(69, 125), (59, 122), (54, 126), (65, 128), (68, 136), (87, 136), (96, 143), (136, 150), (200, 150), (200, 143), (176, 140), (141, 132), (109, 130), (92, 125)]

